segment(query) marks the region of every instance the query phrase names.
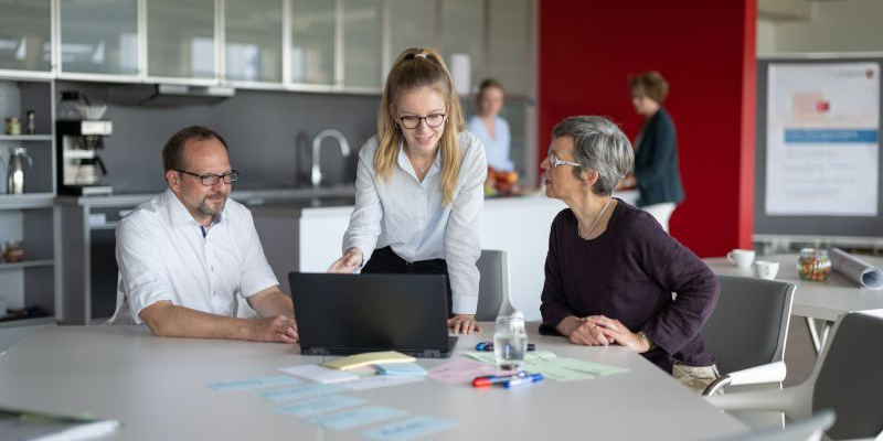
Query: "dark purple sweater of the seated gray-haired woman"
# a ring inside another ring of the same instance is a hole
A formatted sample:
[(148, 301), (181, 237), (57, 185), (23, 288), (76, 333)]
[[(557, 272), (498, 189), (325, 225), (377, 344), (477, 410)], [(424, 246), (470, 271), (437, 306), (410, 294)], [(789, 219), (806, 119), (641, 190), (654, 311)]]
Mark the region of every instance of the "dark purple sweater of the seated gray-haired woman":
[(570, 208), (552, 222), (541, 333), (557, 333), (568, 315), (603, 314), (643, 330), (657, 347), (642, 355), (668, 373), (673, 363), (714, 364), (699, 332), (717, 304), (717, 278), (652, 216), (618, 202), (592, 240), (579, 238)]

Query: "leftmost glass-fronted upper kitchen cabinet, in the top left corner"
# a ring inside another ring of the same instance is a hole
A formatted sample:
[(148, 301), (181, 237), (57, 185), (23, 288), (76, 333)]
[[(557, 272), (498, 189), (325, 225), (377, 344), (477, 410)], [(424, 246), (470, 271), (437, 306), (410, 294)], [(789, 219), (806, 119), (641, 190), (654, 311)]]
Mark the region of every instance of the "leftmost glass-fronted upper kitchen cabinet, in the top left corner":
[(52, 69), (52, 1), (2, 3), (0, 12), (0, 69)]

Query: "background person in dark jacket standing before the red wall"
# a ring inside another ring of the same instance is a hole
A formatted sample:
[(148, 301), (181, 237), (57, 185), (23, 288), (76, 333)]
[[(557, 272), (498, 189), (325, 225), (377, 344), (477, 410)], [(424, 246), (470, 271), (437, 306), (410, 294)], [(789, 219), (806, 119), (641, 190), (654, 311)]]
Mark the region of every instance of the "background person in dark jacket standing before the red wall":
[(650, 213), (668, 233), (669, 218), (684, 198), (678, 169), (678, 136), (671, 116), (662, 108), (669, 84), (656, 71), (632, 76), (628, 84), (631, 105), (645, 120), (635, 141), (635, 173), (623, 186), (638, 187), (636, 205)]

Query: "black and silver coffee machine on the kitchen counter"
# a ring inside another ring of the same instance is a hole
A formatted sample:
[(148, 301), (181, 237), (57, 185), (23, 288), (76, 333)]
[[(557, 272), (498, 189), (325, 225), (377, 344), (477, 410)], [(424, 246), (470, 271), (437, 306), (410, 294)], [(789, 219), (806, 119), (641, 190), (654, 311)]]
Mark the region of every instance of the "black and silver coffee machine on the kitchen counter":
[[(73, 93), (63, 93), (63, 100), (78, 97)], [(107, 168), (98, 155), (104, 149), (104, 138), (114, 131), (111, 121), (100, 119), (104, 106), (77, 105), (78, 112), (61, 111), (55, 122), (57, 152), (56, 173), (58, 194), (76, 196), (110, 194), (114, 189), (103, 185), (102, 179), (107, 175)], [(99, 108), (100, 111), (95, 111)], [(78, 117), (77, 117), (78, 116)], [(94, 117), (91, 119), (89, 117)]]

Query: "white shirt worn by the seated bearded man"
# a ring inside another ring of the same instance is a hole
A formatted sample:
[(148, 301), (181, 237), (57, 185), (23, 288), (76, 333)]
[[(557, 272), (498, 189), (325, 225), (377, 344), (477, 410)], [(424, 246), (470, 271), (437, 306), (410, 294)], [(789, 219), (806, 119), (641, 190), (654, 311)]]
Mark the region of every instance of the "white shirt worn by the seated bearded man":
[(257, 237), (252, 213), (227, 200), (203, 237), (200, 224), (172, 193), (128, 214), (116, 232), (119, 284), (114, 321), (161, 300), (217, 315), (236, 314), (244, 298), (278, 284)]

